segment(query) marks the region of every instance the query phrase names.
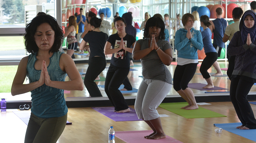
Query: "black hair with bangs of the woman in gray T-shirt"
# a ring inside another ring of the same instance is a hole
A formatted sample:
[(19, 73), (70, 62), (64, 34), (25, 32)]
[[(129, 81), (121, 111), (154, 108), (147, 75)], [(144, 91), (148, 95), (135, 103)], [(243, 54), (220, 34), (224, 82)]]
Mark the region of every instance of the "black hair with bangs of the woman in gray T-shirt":
[(159, 35), (159, 39), (162, 39), (164, 40), (165, 39), (165, 34), (164, 34), (164, 29), (165, 29), (165, 24), (164, 24), (164, 21), (163, 19), (159, 18), (159, 17), (151, 17), (147, 20), (147, 23), (145, 25), (145, 28), (143, 29), (144, 31), (144, 34), (143, 36), (145, 38), (148, 38), (149, 37), (149, 34), (148, 34), (148, 29), (149, 27), (151, 26), (156, 26), (156, 27), (159, 27), (161, 28), (161, 32), (160, 32), (160, 35)]

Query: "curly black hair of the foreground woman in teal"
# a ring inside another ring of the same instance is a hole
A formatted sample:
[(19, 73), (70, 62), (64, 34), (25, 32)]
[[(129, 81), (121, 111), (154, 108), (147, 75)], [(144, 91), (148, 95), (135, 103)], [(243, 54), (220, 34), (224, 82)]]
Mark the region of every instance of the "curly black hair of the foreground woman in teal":
[(25, 28), (26, 33), (24, 34), (24, 43), (25, 43), (26, 50), (29, 53), (35, 53), (38, 51), (38, 46), (36, 45), (34, 35), (36, 33), (37, 27), (43, 23), (48, 23), (55, 32), (54, 44), (49, 50), (49, 53), (59, 51), (59, 48), (61, 46), (61, 41), (63, 38), (62, 27), (58, 25), (54, 17), (44, 14), (44, 15), (39, 15), (33, 18)]

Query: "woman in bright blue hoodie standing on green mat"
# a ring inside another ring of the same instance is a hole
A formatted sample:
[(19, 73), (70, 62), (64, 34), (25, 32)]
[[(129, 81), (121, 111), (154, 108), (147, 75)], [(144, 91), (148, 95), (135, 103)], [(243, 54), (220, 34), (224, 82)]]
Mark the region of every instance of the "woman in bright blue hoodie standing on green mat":
[(192, 14), (183, 15), (184, 28), (177, 30), (174, 42), (178, 51), (178, 63), (174, 71), (173, 88), (188, 102), (187, 106), (182, 107), (186, 110), (198, 109), (194, 93), (188, 88), (198, 64), (197, 50), (203, 49), (201, 32), (193, 28), (194, 20)]

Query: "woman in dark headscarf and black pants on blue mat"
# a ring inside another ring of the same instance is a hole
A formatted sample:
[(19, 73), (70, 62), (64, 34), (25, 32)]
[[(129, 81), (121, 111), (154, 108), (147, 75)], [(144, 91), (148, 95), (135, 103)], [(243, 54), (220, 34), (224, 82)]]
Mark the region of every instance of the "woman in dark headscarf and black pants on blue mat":
[(231, 39), (227, 53), (236, 56), (231, 76), (230, 99), (242, 125), (239, 129), (256, 129), (256, 119), (247, 95), (256, 82), (256, 14), (247, 10), (240, 21), (239, 31)]

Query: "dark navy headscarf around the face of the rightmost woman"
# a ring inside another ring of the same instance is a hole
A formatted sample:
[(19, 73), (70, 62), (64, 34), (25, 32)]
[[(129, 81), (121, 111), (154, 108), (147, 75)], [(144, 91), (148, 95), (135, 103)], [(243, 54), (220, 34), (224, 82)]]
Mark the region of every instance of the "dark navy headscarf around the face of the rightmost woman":
[[(252, 28), (247, 28), (244, 25), (244, 19), (246, 18), (247, 15), (252, 16), (252, 18), (254, 20), (254, 25), (253, 25)], [(255, 37), (256, 37), (256, 34), (255, 34), (256, 21), (255, 21), (255, 19), (256, 19), (256, 14), (253, 10), (247, 10), (246, 12), (244, 12), (243, 16), (241, 17), (241, 21), (240, 21), (240, 24), (239, 24), (239, 30), (241, 32), (241, 37), (242, 37), (243, 44), (245, 44), (246, 41), (247, 41), (248, 33), (250, 34), (252, 43), (254, 43), (254, 40), (255, 40)]]

